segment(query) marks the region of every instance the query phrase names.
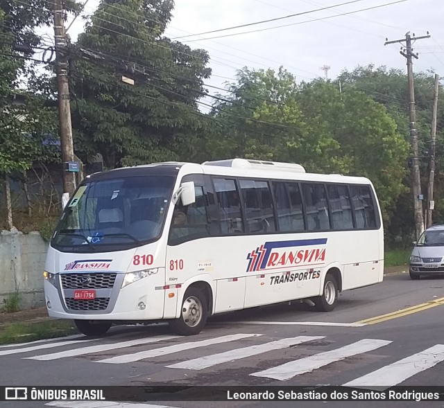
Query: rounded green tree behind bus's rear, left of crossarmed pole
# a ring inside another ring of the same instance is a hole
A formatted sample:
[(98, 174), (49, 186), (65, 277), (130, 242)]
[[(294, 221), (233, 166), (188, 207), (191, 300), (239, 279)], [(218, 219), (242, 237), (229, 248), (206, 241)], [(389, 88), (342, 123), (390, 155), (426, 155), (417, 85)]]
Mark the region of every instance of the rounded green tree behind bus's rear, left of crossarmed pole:
[(314, 120), (314, 131), (330, 134), (341, 146), (343, 174), (373, 181), (387, 225), (389, 209), (404, 191), (409, 145), (384, 105), (355, 89), (340, 93), (323, 80), (302, 85), (299, 102), (307, 121)]

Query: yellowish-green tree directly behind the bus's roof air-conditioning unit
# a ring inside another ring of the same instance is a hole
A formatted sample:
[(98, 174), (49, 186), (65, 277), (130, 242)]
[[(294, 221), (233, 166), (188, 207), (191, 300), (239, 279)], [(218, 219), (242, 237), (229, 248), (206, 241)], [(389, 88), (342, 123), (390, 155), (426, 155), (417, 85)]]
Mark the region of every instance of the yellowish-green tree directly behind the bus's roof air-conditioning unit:
[(247, 157), (302, 163), (308, 170), (342, 168), (339, 144), (311, 132), (298, 101), (296, 80), (285, 69), (239, 71), (230, 85), (232, 96), (214, 104), (220, 123), (207, 141), (213, 159)]

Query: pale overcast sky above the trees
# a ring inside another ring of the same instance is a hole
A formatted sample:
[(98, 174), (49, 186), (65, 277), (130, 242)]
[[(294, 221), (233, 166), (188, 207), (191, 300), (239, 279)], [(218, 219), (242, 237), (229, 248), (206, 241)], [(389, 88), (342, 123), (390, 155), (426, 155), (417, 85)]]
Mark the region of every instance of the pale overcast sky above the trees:
[[(165, 35), (178, 38), (191, 48), (204, 48), (210, 53), (212, 78), (207, 84), (225, 87), (233, 82), (237, 70), (277, 70), (279, 66), (309, 81), (327, 75), (336, 78), (343, 69), (361, 65), (385, 65), (405, 71), (406, 60), (400, 55), (401, 44), (384, 46), (389, 41), (405, 38), (410, 31), (420, 37), (413, 45), (419, 59), (413, 70), (432, 70), (444, 77), (444, 0), (176, 0), (173, 19)], [(94, 12), (98, 0), (88, 0), (85, 14)], [(343, 6), (310, 12), (319, 8)], [(375, 8), (388, 3), (388, 6)], [(373, 8), (373, 10), (357, 10)], [(295, 13), (305, 15), (270, 21), (264, 24), (224, 30), (218, 33), (190, 36)], [(345, 15), (341, 15), (348, 13)], [(314, 21), (318, 19), (318, 21)], [(67, 26), (71, 24), (69, 17)], [(291, 25), (289, 25), (291, 24)], [(83, 30), (78, 17), (69, 28), (75, 40)], [(266, 28), (287, 25), (280, 28)], [(251, 30), (261, 30), (245, 33)], [(52, 35), (51, 30), (47, 30)], [(244, 33), (241, 35), (232, 35)], [(230, 35), (208, 39), (221, 35)], [(185, 37), (188, 36), (188, 37)], [(328, 67), (327, 71), (321, 69)], [(212, 91), (210, 91), (212, 93)]]

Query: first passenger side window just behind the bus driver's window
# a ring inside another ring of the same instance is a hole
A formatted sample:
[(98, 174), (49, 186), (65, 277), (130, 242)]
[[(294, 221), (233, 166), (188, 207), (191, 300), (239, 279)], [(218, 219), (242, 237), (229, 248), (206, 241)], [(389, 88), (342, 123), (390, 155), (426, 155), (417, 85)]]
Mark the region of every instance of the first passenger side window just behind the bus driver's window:
[(244, 222), (242, 221), (241, 202), (236, 183), (232, 179), (214, 177), (213, 180), (219, 204), (219, 220), (222, 235), (243, 233)]

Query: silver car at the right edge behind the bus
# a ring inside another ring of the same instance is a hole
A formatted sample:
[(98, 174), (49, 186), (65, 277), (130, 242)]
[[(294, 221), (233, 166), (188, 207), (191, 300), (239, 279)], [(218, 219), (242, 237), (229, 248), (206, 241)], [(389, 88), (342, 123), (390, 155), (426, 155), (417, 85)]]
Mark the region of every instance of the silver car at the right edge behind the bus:
[(413, 280), (420, 276), (444, 274), (444, 225), (432, 225), (420, 236), (411, 251), (409, 273)]

